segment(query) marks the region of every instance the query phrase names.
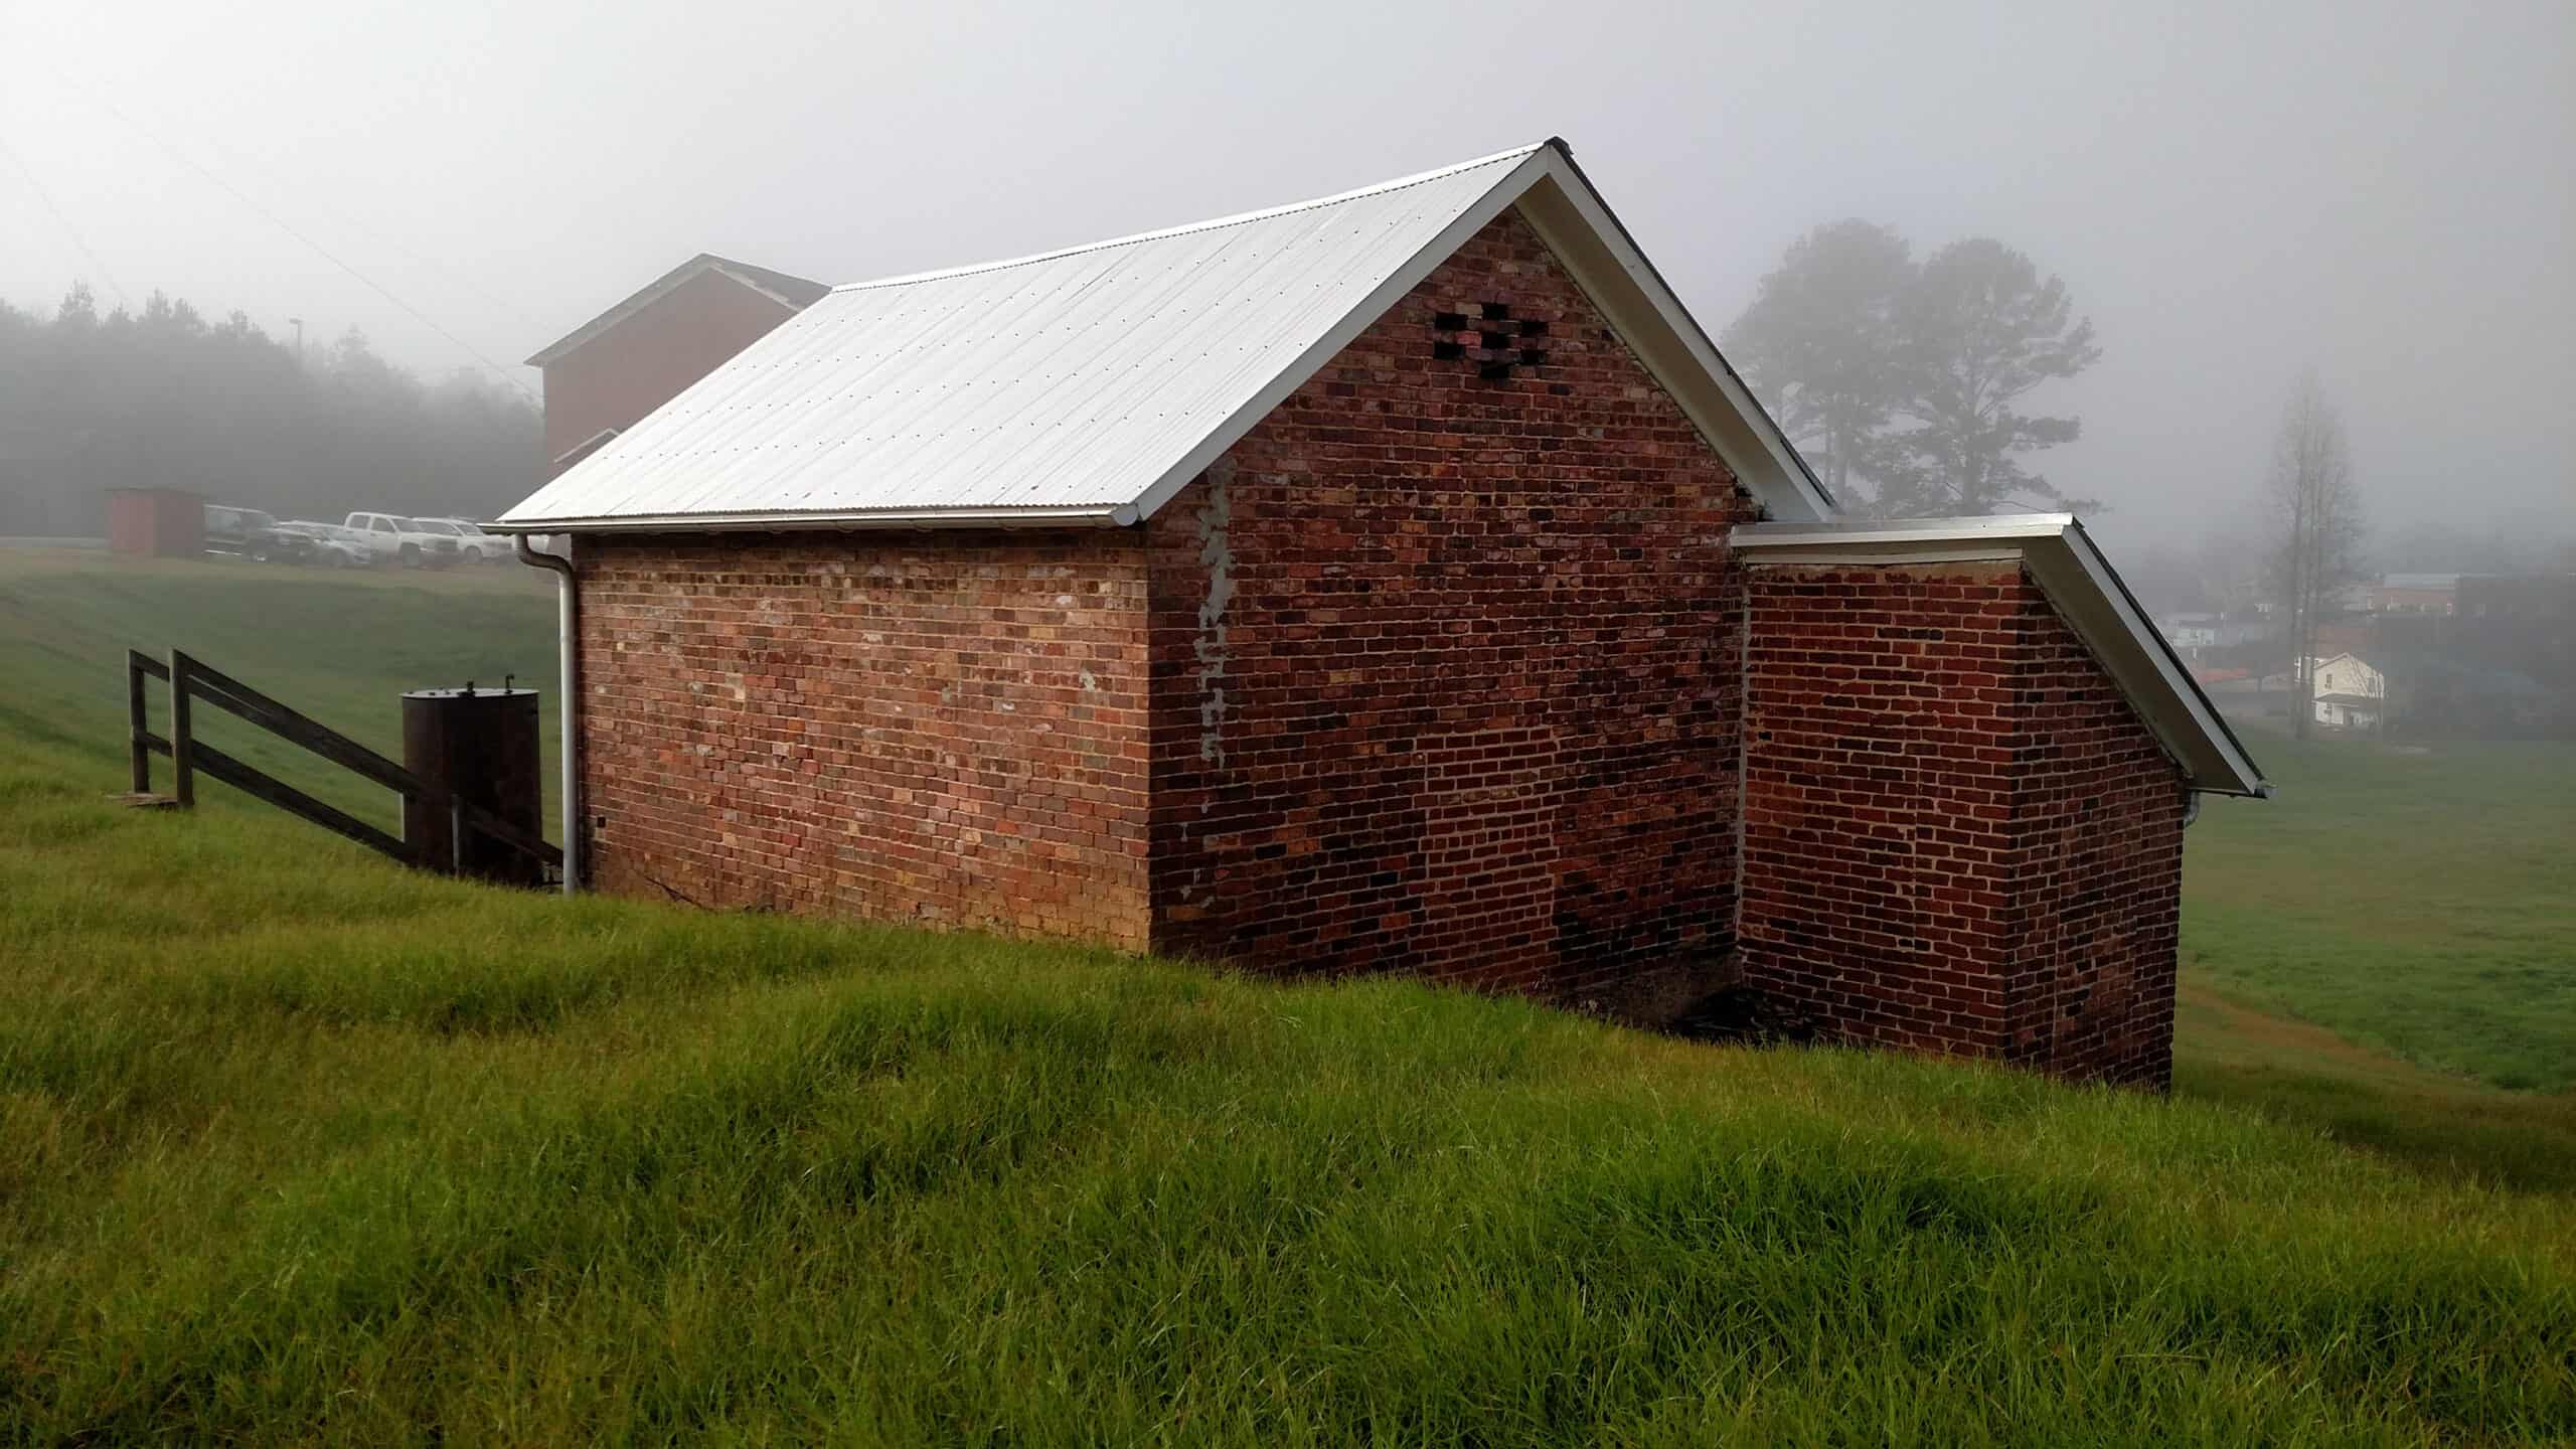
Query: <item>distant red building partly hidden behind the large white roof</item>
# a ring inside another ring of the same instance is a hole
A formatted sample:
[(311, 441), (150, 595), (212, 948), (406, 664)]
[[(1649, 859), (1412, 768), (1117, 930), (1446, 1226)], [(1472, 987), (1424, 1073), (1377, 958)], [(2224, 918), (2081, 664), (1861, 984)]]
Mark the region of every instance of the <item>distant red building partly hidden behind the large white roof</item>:
[(698, 253), (564, 333), (528, 366), (546, 371), (546, 477), (636, 425), (732, 361), (829, 286)]

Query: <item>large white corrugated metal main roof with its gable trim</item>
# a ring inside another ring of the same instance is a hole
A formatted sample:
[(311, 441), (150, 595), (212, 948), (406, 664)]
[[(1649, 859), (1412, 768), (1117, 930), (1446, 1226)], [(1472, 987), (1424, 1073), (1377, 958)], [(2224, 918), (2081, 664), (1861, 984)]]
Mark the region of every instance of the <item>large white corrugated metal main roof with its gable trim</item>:
[(1548, 142), (1273, 211), (840, 286), (495, 526), (1133, 523), (1512, 204), (1757, 498), (1832, 516)]

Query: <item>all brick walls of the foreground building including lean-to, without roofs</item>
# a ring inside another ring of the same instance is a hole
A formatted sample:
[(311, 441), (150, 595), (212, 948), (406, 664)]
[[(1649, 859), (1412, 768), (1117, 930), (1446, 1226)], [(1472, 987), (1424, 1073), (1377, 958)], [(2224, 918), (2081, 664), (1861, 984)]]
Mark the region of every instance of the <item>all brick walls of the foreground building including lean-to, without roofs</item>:
[(1752, 516), (1504, 214), (1144, 529), (585, 539), (590, 869), (2164, 1083), (2174, 766), (2017, 562)]

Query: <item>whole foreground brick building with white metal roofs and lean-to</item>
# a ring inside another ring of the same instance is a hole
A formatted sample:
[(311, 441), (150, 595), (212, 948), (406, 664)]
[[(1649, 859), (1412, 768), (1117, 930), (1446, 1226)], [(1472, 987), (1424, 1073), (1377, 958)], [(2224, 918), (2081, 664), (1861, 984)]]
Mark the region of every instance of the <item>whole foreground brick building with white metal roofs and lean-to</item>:
[(2267, 789), (2071, 518), (1839, 521), (1558, 142), (835, 289), (505, 526), (598, 890), (2161, 1083)]

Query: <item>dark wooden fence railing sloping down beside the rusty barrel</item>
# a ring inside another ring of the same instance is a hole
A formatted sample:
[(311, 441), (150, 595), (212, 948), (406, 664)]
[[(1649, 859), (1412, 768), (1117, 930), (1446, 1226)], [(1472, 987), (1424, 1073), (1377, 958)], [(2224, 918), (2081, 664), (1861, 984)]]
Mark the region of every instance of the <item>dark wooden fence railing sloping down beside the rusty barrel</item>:
[[(170, 683), (170, 735), (155, 735), (149, 719), (149, 686), (144, 681), (157, 678)], [(325, 804), (312, 794), (245, 763), (224, 750), (196, 737), (191, 724), (191, 701), (206, 701), (227, 714), (247, 719), (270, 735), (301, 745), (325, 761), (353, 771), (384, 789), (392, 789), (404, 802), (422, 802), (430, 810), (443, 810), (453, 830), (451, 859), (430, 861), (415, 841), (402, 841), (355, 815)], [(250, 688), (247, 683), (227, 676), (224, 670), (188, 657), (180, 650), (170, 650), (170, 663), (160, 663), (144, 652), (126, 650), (126, 748), (131, 761), (131, 784), (137, 797), (152, 794), (152, 755), (165, 755), (170, 761), (170, 802), (180, 810), (196, 804), (196, 773), (204, 771), (242, 794), (265, 799), (278, 810), (309, 820), (335, 835), (355, 841), (371, 851), (381, 851), (407, 866), (425, 866), (433, 871), (461, 871), (466, 861), (466, 841), (471, 835), (484, 835), (500, 841), (510, 851), (536, 859), (541, 866), (562, 871), (564, 851), (549, 846), (544, 838), (520, 830), (518, 825), (492, 815), (482, 804), (446, 789), (443, 784), (425, 781), (412, 771), (397, 766), (394, 761), (368, 750), (366, 745), (340, 735), (337, 730), (286, 706), (276, 699)]]

